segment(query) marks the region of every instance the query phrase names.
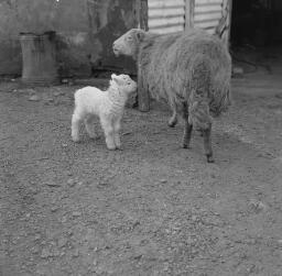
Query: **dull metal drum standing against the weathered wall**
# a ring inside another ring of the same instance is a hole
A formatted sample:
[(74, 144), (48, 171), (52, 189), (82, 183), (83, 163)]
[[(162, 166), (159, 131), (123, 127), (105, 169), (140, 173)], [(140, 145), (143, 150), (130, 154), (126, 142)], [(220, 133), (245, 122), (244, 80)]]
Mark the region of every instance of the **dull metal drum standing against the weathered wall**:
[(23, 82), (34, 85), (58, 82), (55, 36), (55, 32), (20, 33)]

